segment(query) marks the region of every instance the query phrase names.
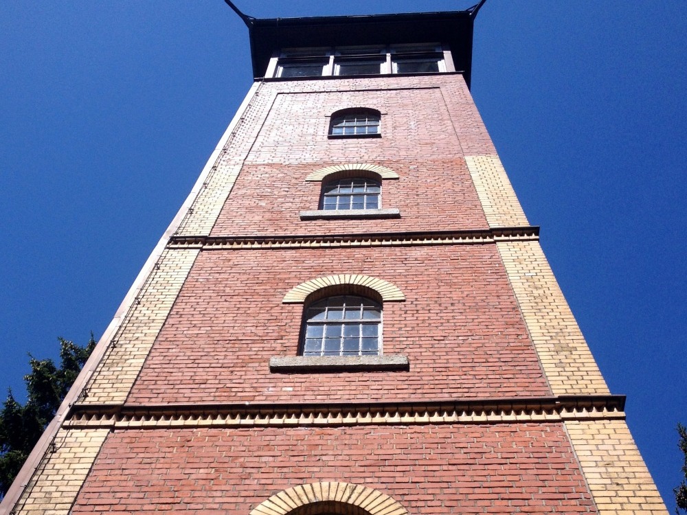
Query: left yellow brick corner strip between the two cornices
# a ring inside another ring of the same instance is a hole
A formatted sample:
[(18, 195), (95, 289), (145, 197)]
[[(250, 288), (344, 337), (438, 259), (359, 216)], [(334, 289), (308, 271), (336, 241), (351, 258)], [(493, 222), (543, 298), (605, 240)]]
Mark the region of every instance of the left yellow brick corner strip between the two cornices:
[(166, 251), (95, 369), (81, 403), (126, 400), (199, 252)]

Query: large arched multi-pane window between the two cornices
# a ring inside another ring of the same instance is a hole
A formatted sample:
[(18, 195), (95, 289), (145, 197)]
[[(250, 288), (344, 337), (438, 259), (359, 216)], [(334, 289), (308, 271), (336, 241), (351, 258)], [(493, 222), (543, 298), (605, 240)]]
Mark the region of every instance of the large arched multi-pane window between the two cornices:
[(307, 306), (303, 356), (376, 356), (381, 351), (382, 306), (357, 295), (336, 295)]

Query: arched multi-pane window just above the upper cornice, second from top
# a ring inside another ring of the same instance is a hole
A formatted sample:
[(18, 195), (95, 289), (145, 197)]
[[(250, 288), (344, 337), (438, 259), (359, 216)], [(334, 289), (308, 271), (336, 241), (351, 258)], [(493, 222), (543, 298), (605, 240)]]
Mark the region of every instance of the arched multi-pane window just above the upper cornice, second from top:
[(368, 177), (329, 181), (322, 185), (320, 209), (379, 209), (381, 183)]

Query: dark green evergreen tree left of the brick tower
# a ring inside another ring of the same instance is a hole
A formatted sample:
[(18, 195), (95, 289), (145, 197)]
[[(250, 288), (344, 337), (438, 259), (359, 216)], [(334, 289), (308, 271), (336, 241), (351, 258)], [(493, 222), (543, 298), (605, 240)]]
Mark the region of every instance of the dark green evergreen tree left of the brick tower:
[(52, 359), (38, 360), (29, 356), (31, 373), (24, 376), (26, 403), (23, 406), (19, 404), (9, 391), (0, 409), (0, 499), (5, 496), (95, 347), (92, 332), (85, 347), (63, 338), (58, 340), (60, 367)]

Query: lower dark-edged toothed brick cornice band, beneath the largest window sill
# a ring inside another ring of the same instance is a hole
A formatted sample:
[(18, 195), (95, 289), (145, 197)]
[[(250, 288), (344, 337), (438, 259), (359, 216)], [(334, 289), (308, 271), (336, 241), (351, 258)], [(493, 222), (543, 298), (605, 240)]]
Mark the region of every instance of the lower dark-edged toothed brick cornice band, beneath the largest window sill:
[(71, 428), (498, 424), (624, 419), (624, 396), (330, 404), (171, 404), (71, 409)]

